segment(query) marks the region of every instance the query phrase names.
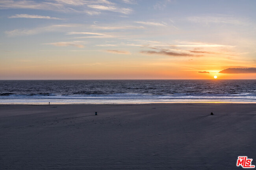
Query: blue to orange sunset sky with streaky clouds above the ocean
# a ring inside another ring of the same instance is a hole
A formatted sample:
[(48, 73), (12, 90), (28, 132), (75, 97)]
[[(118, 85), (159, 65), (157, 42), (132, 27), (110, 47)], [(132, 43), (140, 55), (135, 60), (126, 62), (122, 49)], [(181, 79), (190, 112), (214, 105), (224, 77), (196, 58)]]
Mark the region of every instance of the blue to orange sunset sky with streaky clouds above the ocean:
[(255, 0), (0, 0), (0, 79), (255, 79)]

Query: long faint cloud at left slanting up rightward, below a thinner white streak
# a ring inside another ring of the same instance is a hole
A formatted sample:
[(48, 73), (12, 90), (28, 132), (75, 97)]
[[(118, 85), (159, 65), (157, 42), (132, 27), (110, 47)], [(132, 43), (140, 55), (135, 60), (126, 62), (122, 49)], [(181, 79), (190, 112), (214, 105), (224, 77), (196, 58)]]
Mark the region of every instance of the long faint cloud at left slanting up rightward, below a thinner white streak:
[(43, 32), (65, 31), (64, 28), (77, 27), (77, 26), (79, 26), (79, 24), (52, 25), (52, 26), (46, 26), (46, 27), (36, 27), (33, 29), (14, 29), (12, 31), (5, 31), (5, 33), (10, 37), (22, 36), (22, 35), (35, 35)]

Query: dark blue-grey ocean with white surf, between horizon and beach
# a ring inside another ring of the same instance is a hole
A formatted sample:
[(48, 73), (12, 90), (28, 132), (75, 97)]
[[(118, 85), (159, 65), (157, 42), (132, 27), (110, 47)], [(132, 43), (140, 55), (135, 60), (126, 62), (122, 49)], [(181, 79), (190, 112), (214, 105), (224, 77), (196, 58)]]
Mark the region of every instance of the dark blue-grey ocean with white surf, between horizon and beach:
[(0, 80), (2, 104), (256, 103), (256, 80)]

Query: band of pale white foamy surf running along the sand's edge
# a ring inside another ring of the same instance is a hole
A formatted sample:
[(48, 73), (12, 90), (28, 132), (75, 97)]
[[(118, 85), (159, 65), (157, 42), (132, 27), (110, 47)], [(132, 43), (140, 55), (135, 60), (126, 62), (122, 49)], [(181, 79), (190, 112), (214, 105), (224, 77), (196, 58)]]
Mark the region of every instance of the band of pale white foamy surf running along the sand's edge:
[(195, 95), (141, 95), (141, 94), (111, 94), (111, 95), (9, 95), (2, 96), (4, 103), (30, 102), (66, 102), (66, 103), (140, 103), (140, 102), (256, 102), (256, 96), (195, 96)]

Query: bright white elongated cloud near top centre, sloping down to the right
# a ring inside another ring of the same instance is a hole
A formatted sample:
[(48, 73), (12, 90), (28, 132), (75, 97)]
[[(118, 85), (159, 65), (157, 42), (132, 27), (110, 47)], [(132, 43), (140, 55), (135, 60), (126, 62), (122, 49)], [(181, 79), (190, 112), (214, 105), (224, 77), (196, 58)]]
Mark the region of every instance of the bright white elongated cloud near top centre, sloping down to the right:
[(112, 12), (118, 12), (123, 14), (129, 14), (132, 12), (131, 8), (121, 8), (116, 6), (104, 6), (104, 5), (87, 5), (90, 8), (98, 9), (102, 11), (112, 11)]

